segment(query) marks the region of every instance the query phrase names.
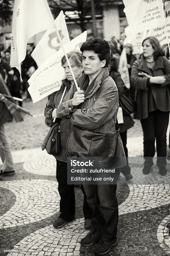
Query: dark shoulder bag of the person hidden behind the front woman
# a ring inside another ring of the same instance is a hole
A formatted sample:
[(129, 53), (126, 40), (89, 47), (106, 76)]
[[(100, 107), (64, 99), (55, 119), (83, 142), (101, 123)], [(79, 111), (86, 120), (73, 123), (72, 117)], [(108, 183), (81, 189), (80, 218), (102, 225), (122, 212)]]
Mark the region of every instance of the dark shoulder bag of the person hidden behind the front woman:
[(123, 115), (130, 115), (136, 111), (136, 102), (132, 99), (130, 90), (126, 87), (124, 93), (119, 99), (119, 105), (122, 108)]

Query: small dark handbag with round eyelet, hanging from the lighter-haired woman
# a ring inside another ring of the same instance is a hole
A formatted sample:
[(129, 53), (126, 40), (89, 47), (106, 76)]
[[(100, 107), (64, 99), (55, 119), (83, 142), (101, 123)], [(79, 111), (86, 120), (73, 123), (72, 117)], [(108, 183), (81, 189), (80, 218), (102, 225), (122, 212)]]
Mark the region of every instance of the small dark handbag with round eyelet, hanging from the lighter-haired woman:
[(56, 155), (60, 148), (60, 132), (59, 127), (60, 122), (57, 122), (51, 126), (44, 142), (41, 146), (42, 150), (46, 149), (47, 153), (50, 155)]

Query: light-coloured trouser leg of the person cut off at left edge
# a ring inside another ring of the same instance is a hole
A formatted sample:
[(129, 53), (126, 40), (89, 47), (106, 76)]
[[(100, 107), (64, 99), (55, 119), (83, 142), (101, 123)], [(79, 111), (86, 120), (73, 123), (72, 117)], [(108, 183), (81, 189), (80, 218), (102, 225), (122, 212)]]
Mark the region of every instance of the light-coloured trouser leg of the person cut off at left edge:
[(1, 170), (6, 172), (14, 170), (13, 158), (7, 136), (5, 135), (4, 125), (0, 126), (0, 156), (3, 162)]

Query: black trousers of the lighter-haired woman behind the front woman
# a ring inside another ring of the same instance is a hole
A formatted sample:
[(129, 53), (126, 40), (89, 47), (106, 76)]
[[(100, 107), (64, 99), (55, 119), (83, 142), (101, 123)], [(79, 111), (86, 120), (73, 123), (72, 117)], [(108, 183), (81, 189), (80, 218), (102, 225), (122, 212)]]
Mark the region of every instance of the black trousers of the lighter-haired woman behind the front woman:
[[(67, 163), (56, 160), (56, 179), (58, 181), (58, 191), (60, 194), (60, 216), (65, 221), (74, 220), (75, 215), (75, 194), (74, 185), (67, 185)], [(83, 187), (83, 186), (82, 186)], [(81, 188), (82, 188), (81, 187)], [(84, 194), (83, 201), (83, 213), (85, 219), (91, 219), (92, 210), (86, 202), (85, 191), (82, 188)]]

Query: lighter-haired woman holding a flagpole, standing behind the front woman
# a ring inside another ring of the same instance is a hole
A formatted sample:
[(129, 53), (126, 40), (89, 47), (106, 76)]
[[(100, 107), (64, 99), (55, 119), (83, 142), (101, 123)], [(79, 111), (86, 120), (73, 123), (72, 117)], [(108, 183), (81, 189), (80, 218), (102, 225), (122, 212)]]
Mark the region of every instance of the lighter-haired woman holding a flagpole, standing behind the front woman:
[[(75, 78), (77, 79), (82, 75), (83, 67), (82, 67), (82, 55), (80, 52), (71, 51), (67, 54), (70, 65), (72, 67)], [(61, 228), (66, 225), (67, 222), (74, 220), (75, 215), (75, 194), (74, 194), (74, 185), (67, 185), (67, 152), (66, 152), (66, 143), (71, 131), (71, 122), (69, 119), (58, 119), (56, 115), (56, 109), (60, 103), (60, 99), (62, 97), (65, 86), (67, 87), (65, 95), (70, 90), (70, 88), (74, 85), (74, 80), (67, 63), (65, 56), (61, 59), (61, 65), (64, 68), (64, 72), (66, 75), (66, 79), (62, 80), (62, 86), (59, 91), (56, 91), (51, 94), (50, 100), (46, 104), (46, 108), (44, 111), (44, 115), (46, 117), (46, 124), (51, 127), (53, 123), (53, 119), (56, 118), (55, 122), (60, 122), (60, 136), (61, 143), (60, 149), (56, 158), (56, 179), (58, 181), (58, 191), (61, 197), (60, 200), (60, 216), (53, 223), (55, 228)], [(86, 195), (83, 188), (81, 189), (84, 194), (83, 201), (83, 213), (85, 216), (84, 227), (86, 229), (91, 228), (91, 217), (92, 210), (88, 206), (86, 202)]]

